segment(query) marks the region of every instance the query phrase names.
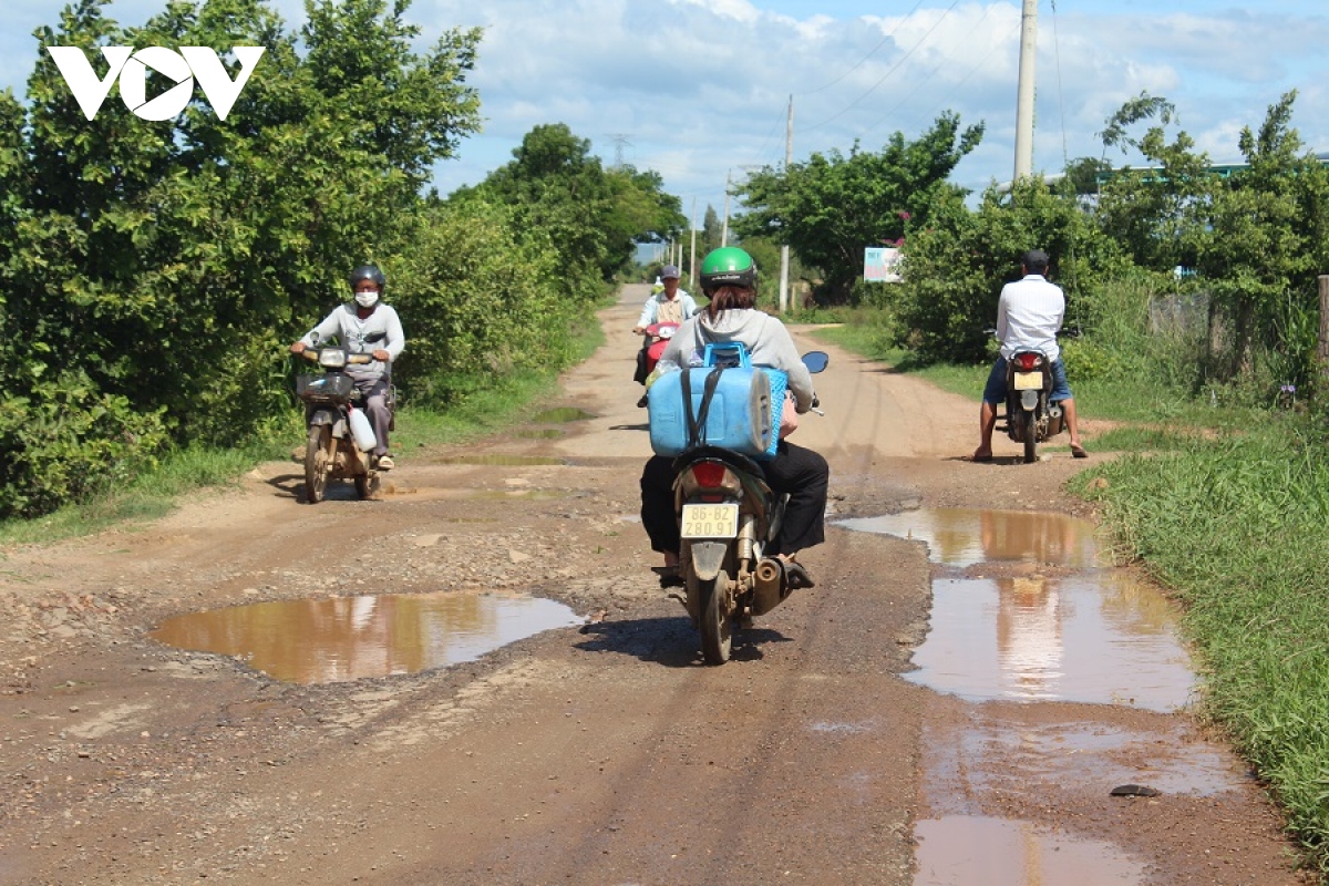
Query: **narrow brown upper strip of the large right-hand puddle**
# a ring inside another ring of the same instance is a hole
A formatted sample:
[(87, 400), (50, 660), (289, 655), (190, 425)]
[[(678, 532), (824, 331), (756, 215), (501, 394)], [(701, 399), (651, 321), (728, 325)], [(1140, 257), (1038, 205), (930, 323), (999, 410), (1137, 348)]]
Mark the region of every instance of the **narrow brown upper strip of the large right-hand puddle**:
[(840, 521), (847, 529), (928, 543), (944, 566), (1023, 561), (1069, 569), (1094, 566), (1094, 523), (1063, 514), (941, 507)]

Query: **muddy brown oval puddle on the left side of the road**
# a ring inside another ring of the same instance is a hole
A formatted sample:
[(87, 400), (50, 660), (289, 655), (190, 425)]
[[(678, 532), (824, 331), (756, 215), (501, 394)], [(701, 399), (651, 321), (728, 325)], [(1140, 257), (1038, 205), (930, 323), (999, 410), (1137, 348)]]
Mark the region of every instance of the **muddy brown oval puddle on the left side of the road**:
[(562, 603), (494, 594), (384, 594), (278, 600), (179, 615), (149, 636), (233, 655), (284, 683), (415, 673), (581, 624)]

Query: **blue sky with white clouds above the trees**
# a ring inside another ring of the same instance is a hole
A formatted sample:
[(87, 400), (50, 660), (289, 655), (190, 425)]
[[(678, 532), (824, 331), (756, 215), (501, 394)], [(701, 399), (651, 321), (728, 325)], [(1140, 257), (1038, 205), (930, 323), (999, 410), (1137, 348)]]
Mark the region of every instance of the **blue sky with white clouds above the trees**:
[[(300, 0), (270, 0), (292, 28)], [(32, 31), (64, 4), (7, 0), (0, 88), (23, 96), (40, 48)], [(140, 24), (165, 0), (114, 0)], [(1329, 151), (1329, 12), (1324, 0), (1265, 11), (1207, 0), (1041, 0), (1034, 169), (1103, 153), (1098, 133), (1147, 90), (1215, 161), (1239, 159), (1243, 126), (1298, 90), (1293, 125)], [(563, 122), (614, 162), (659, 171), (695, 207), (723, 209), (724, 186), (784, 159), (793, 97), (793, 158), (857, 139), (878, 150), (914, 138), (938, 114), (983, 121), (982, 145), (953, 175), (981, 191), (1014, 167), (1021, 0), (415, 0), (407, 17), (432, 43), (449, 27), (485, 39), (469, 80), (485, 132), (436, 169), (444, 193), (512, 158), (538, 124)], [(263, 76), (262, 64), (254, 73)], [(1124, 162), (1120, 154), (1110, 159)]]

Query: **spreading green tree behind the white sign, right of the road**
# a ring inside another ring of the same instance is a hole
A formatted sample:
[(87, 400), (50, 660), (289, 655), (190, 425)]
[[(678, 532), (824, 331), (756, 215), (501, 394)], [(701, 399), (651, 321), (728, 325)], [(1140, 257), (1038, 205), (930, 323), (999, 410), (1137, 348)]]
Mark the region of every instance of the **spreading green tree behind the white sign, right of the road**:
[(788, 243), (820, 268), (825, 296), (844, 300), (865, 247), (897, 243), (928, 224), (934, 207), (964, 194), (946, 178), (982, 134), (982, 124), (961, 129), (960, 116), (945, 113), (916, 141), (896, 133), (880, 153), (855, 142), (848, 157), (832, 150), (787, 170), (767, 166), (739, 189), (750, 211), (735, 227)]

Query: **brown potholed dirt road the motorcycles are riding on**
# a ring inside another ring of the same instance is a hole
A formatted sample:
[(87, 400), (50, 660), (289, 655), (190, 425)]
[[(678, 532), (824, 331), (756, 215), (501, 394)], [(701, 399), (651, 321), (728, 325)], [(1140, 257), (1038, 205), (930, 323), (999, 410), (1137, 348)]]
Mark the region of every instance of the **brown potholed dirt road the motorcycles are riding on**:
[[(589, 418), (403, 453), (372, 502), (307, 506), (299, 466), (267, 464), (159, 522), (4, 551), (0, 883), (995, 882), (916, 870), (916, 825), (946, 816), (1019, 822), (1067, 857), (1098, 846), (1076, 886), (1300, 882), (1249, 780), (1107, 794), (1104, 761), (1158, 773), (1212, 747), (1185, 715), (974, 704), (902, 679), (929, 619), (917, 543), (832, 525), (804, 557), (817, 587), (703, 667), (637, 521), (645, 295), (603, 312), (609, 344), (550, 404)], [(999, 441), (995, 464), (961, 460), (973, 401), (833, 349), (817, 387), (827, 417), (797, 438), (831, 461), (833, 517), (1086, 513), (1061, 491), (1084, 466), (1065, 452), (1015, 465)], [(520, 464), (537, 456), (554, 464)], [(473, 590), (589, 620), (310, 685), (148, 636), (197, 610)], [(1080, 761), (1058, 756), (1065, 735), (1131, 740)], [(1021, 882), (1065, 882), (1050, 871)]]

